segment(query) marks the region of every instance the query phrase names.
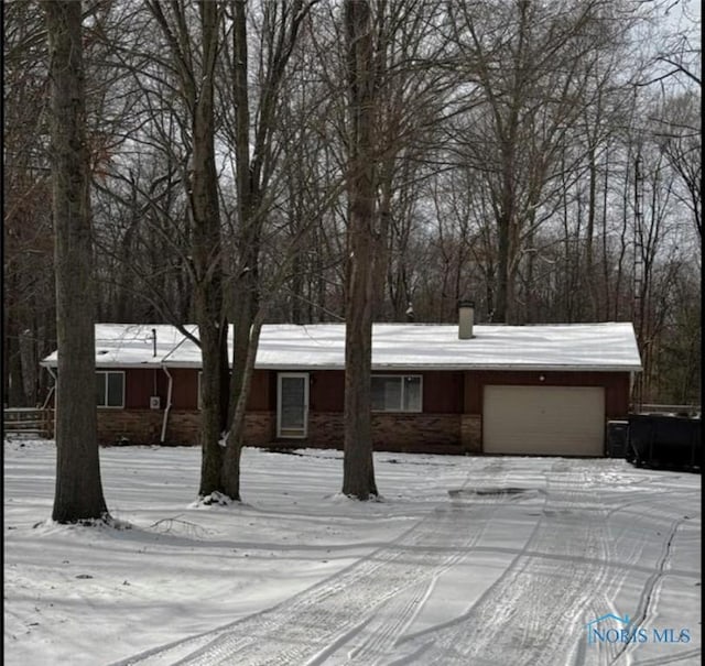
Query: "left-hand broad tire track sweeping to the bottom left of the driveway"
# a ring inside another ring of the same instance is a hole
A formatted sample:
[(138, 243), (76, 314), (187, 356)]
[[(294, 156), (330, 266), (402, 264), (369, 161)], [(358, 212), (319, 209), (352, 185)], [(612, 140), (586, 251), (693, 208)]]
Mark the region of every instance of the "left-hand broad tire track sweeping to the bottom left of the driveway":
[[(495, 483), (501, 481), (501, 465), (492, 463), (488, 471)], [(115, 666), (313, 665), (368, 625), (360, 654), (376, 652), (376, 642), (387, 646), (408, 625), (437, 576), (467, 556), (480, 536), (476, 525), (487, 525), (497, 506), (438, 507), (394, 543), (273, 609)], [(388, 604), (397, 607), (392, 618), (373, 621)]]

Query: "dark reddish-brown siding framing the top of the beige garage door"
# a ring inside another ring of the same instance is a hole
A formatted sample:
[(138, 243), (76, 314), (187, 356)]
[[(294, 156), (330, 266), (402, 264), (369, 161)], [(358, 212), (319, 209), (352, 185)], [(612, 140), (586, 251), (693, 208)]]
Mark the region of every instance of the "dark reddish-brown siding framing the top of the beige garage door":
[[(541, 381), (541, 376), (544, 378)], [(465, 412), (482, 413), (482, 389), (487, 384), (512, 386), (604, 386), (605, 416), (626, 416), (629, 411), (628, 372), (491, 372), (465, 374)]]

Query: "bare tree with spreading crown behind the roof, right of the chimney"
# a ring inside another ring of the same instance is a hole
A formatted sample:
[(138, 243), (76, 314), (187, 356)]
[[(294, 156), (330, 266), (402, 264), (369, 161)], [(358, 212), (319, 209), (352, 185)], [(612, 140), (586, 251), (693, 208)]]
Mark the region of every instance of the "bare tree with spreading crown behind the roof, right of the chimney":
[(583, 92), (597, 55), (628, 23), (617, 3), (604, 0), (453, 7), (451, 30), (474, 108), (459, 124), (457, 140), (466, 163), (485, 175), (491, 193), (497, 230), (494, 318), (511, 321), (522, 249), (541, 221), (547, 185), (563, 177), (564, 150), (582, 109), (592, 103)]

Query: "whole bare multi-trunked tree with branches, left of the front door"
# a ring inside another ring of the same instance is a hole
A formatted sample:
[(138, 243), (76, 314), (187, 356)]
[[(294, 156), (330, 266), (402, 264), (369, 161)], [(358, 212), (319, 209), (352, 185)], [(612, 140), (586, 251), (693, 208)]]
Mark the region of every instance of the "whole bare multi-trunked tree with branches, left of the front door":
[[(300, 29), (314, 4), (148, 0), (133, 15), (131, 39), (112, 52), (142, 96), (135, 101), (141, 109), (137, 127), (126, 142), (134, 153), (126, 151), (106, 182), (96, 183), (106, 206), (101, 249), (112, 263), (108, 272), (117, 293), (124, 298), (126, 291), (141, 288), (172, 324), (183, 325), (189, 308), (174, 302), (166, 276), (193, 293), (199, 326), (194, 341), (204, 364), (204, 498), (221, 492), (239, 499), (257, 331), (269, 296), (291, 273), (288, 248), (301, 241), (302, 230), (288, 233), (289, 226), (273, 211), (281, 209), (278, 197), (286, 175), (280, 164), (283, 146), (292, 141), (280, 107)], [(153, 37), (144, 39), (154, 28), (156, 45)], [(120, 211), (119, 226), (109, 215), (111, 203)], [(283, 237), (289, 244), (280, 243), (278, 258), (261, 271), (263, 248)], [(229, 321), (235, 323), (231, 375)]]

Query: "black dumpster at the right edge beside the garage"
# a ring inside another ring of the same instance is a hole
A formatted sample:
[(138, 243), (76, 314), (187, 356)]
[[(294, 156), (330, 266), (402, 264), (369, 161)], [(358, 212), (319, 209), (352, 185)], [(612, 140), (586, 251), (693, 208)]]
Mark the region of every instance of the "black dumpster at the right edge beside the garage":
[(637, 467), (701, 470), (701, 419), (630, 414), (627, 460)]

